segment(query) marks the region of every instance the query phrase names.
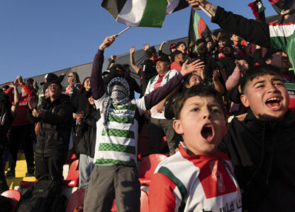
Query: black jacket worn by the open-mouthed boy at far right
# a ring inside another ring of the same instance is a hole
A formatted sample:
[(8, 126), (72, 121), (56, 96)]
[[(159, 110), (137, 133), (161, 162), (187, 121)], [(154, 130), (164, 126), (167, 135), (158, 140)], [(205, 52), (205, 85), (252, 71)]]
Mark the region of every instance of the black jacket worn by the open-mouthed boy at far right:
[(262, 121), (250, 111), (243, 121), (233, 119), (219, 150), (235, 167), (249, 211), (294, 211), (295, 114), (282, 121)]

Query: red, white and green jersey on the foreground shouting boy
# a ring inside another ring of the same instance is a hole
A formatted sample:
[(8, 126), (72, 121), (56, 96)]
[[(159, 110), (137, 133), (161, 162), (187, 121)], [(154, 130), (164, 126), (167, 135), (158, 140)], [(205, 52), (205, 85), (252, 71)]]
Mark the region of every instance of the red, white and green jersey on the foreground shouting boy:
[(156, 168), (150, 211), (242, 211), (233, 167), (223, 153), (189, 155), (184, 143)]

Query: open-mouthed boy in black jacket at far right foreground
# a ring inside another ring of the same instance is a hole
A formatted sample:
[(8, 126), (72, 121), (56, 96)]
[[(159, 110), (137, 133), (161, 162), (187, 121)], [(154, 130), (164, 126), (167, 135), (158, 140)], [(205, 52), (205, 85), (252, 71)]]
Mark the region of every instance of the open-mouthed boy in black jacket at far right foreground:
[(229, 155), (248, 211), (294, 211), (295, 114), (280, 69), (255, 66), (241, 82), (250, 107), (234, 118), (219, 148)]

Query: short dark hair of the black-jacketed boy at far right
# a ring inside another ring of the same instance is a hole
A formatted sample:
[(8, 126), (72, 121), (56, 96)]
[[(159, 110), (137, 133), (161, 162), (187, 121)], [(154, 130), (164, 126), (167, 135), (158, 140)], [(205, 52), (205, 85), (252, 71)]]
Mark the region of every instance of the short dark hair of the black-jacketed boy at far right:
[(262, 75), (279, 75), (282, 78), (282, 70), (279, 67), (272, 66), (272, 65), (259, 65), (259, 66), (253, 66), (252, 68), (248, 69), (245, 73), (245, 76), (242, 79), (242, 82), (240, 83), (240, 88), (242, 90), (242, 93), (245, 93), (245, 90), (247, 88), (247, 83), (249, 81), (252, 81), (254, 78), (257, 78), (257, 76)]

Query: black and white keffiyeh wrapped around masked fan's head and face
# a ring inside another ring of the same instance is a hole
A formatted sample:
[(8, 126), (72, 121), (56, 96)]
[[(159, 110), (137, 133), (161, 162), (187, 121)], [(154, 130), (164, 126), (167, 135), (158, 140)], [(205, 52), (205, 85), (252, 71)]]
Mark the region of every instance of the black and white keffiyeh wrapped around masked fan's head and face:
[[(121, 85), (116, 85), (116, 82), (121, 83)], [(108, 83), (108, 88), (106, 90), (106, 94), (108, 97), (104, 100), (104, 127), (106, 127), (106, 123), (108, 122), (108, 112), (113, 103), (124, 105), (129, 102), (129, 84), (125, 78), (116, 77), (113, 78)]]

